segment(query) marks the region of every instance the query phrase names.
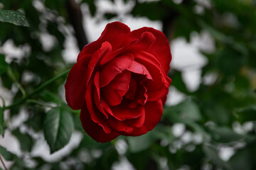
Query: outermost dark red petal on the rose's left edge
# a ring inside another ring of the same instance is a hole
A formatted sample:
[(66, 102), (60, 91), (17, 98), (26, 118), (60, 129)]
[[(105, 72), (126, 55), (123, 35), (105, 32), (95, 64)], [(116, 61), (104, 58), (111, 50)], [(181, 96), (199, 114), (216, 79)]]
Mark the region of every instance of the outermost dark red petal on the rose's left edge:
[(85, 55), (73, 65), (65, 82), (65, 98), (68, 106), (79, 110), (85, 104), (85, 73), (91, 55)]

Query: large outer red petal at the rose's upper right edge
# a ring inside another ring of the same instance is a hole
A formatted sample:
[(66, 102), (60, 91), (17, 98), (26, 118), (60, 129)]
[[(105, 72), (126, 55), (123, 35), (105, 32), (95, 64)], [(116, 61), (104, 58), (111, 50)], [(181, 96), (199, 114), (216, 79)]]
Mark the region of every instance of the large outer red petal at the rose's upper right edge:
[(149, 52), (150, 54), (154, 55), (156, 59), (159, 60), (159, 62), (161, 63), (161, 67), (163, 67), (164, 72), (167, 74), (170, 69), (171, 50), (166, 36), (159, 30), (147, 27), (140, 28), (138, 30), (133, 30), (130, 33), (130, 36), (138, 38), (144, 32), (152, 33), (156, 38), (153, 45), (151, 45), (151, 47), (148, 50), (146, 50), (146, 52)]

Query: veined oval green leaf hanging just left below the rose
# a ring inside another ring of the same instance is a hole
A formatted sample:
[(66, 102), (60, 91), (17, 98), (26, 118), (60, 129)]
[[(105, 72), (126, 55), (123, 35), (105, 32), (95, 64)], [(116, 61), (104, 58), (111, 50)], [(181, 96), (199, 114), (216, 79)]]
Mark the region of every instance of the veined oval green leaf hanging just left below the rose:
[(53, 108), (46, 113), (43, 132), (53, 153), (68, 144), (74, 130), (73, 118), (68, 111)]

